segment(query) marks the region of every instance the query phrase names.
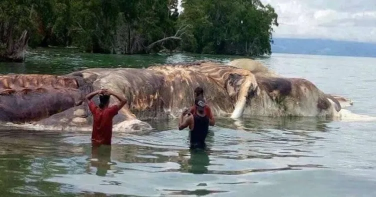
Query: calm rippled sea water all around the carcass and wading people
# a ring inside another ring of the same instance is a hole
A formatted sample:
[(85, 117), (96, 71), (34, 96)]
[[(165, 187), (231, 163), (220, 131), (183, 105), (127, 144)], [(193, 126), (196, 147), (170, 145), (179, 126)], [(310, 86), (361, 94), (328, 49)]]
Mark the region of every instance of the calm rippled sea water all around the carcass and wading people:
[[(228, 56), (123, 56), (34, 51), (0, 72), (65, 74), (88, 67), (142, 67)], [(375, 58), (273, 54), (260, 59), (289, 77), (354, 100), (376, 116)], [(110, 149), (92, 150), (89, 132), (0, 131), (0, 194), (31, 196), (374, 197), (374, 122), (316, 118), (217, 120), (206, 152), (188, 150), (177, 121), (154, 131), (114, 133)]]

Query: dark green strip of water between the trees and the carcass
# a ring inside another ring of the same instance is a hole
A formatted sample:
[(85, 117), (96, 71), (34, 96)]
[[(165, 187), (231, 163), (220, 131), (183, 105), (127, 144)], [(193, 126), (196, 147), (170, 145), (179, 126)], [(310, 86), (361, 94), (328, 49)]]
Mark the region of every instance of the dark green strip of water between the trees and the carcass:
[(117, 55), (81, 53), (76, 49), (32, 49), (23, 63), (0, 62), (0, 73), (25, 74), (67, 74), (77, 69), (93, 67), (142, 68), (151, 64), (192, 62), (197, 60), (219, 61), (227, 63), (236, 56), (180, 54), (173, 55)]

